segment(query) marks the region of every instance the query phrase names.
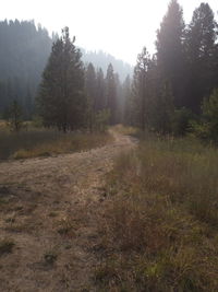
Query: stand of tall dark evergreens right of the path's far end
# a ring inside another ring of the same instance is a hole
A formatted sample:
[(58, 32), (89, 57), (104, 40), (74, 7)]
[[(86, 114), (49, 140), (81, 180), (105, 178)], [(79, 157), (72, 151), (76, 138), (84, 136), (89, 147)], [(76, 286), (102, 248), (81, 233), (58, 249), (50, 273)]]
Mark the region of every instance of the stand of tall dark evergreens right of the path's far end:
[(218, 87), (217, 27), (207, 3), (201, 3), (185, 25), (182, 8), (171, 0), (157, 32), (156, 52), (150, 56), (144, 48), (138, 55), (128, 86), (126, 124), (184, 135), (208, 122), (203, 112)]

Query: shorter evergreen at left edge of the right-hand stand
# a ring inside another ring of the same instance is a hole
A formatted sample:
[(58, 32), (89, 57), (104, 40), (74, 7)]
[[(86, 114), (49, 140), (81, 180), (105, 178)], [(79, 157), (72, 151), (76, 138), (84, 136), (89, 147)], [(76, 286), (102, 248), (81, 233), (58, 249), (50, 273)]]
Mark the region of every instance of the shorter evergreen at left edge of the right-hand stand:
[(174, 112), (171, 84), (158, 71), (157, 60), (146, 48), (138, 55), (133, 78), (134, 124), (142, 130), (169, 133)]

